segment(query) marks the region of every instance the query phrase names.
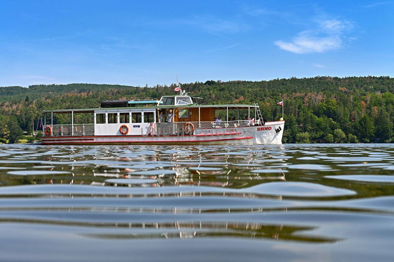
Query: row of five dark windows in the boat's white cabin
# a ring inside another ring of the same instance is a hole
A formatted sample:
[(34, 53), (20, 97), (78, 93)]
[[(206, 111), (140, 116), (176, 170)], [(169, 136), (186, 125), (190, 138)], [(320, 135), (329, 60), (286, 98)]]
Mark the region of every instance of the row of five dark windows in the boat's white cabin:
[[(106, 113), (97, 113), (96, 114), (96, 124), (105, 124), (106, 121)], [(108, 124), (117, 124), (118, 123), (118, 115), (119, 115), (119, 123), (130, 123), (130, 115), (132, 123), (151, 123), (154, 122), (154, 112), (133, 112), (133, 113), (107, 113), (108, 115)]]

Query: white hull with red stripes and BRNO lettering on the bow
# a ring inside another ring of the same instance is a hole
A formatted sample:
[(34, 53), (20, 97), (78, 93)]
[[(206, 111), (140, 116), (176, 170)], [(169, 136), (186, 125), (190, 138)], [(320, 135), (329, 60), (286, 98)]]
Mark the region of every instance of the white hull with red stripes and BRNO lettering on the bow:
[(47, 136), (42, 138), (42, 145), (281, 144), (283, 130), (284, 121), (273, 121), (264, 126), (196, 128), (193, 135)]

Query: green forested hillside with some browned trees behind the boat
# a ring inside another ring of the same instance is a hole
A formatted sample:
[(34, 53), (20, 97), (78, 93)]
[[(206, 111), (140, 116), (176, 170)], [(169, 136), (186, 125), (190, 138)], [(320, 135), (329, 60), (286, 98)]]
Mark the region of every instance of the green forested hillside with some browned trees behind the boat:
[[(19, 126), (31, 131), (42, 110), (96, 108), (103, 100), (160, 98), (174, 85), (68, 84), (0, 87), (0, 137)], [(284, 100), (283, 142), (394, 141), (394, 78), (388, 76), (289, 78), (270, 81), (206, 81), (183, 84), (203, 104), (258, 102), (263, 117), (279, 119)], [(14, 126), (17, 123), (17, 126)]]

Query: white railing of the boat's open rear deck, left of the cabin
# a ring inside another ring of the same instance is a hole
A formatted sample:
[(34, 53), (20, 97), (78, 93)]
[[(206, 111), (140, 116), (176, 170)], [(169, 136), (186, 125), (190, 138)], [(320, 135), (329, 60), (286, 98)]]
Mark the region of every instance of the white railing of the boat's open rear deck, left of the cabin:
[[(52, 128), (52, 132), (47, 135), (45, 129), (47, 126)], [(94, 124), (47, 124), (43, 126), (44, 136), (94, 136)]]

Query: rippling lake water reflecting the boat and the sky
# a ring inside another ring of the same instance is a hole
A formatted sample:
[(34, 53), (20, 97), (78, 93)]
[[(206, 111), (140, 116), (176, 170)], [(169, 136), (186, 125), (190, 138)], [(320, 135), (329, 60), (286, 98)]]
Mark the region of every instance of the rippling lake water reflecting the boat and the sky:
[(392, 261), (394, 146), (0, 146), (0, 261)]

